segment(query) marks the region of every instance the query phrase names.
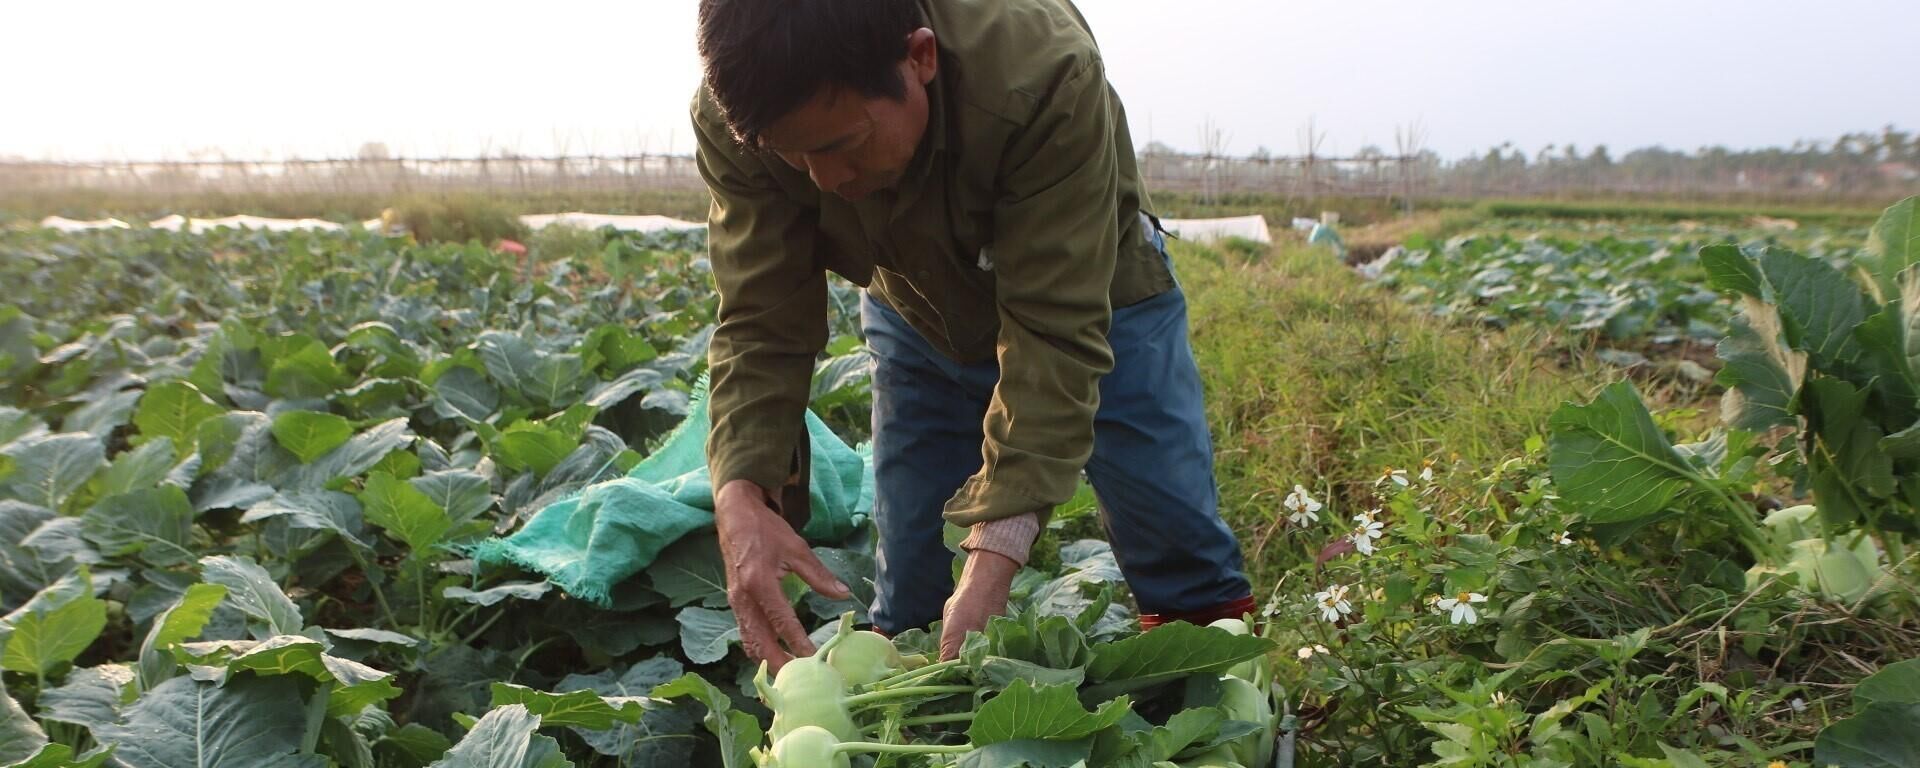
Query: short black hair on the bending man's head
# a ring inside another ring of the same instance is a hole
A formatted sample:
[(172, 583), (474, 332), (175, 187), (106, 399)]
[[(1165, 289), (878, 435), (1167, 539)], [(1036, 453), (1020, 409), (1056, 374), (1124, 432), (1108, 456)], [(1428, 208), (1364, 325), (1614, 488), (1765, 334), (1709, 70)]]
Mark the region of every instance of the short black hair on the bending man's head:
[(922, 25), (916, 0), (701, 0), (707, 88), (733, 138), (756, 146), (824, 86), (906, 98), (899, 63)]

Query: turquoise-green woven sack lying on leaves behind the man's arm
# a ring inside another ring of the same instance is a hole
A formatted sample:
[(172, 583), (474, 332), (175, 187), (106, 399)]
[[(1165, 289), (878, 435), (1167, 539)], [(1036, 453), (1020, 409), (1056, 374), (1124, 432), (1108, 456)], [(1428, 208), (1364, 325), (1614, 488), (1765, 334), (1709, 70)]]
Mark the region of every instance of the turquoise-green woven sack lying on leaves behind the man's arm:
[[(612, 605), (614, 586), (653, 564), (682, 536), (714, 524), (714, 490), (707, 474), (710, 428), (703, 376), (687, 419), (626, 476), (582, 488), (534, 513), (513, 536), (472, 545), (468, 555), (482, 568), (516, 564), (572, 597)], [(812, 516), (801, 536), (839, 543), (874, 511), (868, 445), (849, 447), (812, 411), (806, 411), (806, 434)]]

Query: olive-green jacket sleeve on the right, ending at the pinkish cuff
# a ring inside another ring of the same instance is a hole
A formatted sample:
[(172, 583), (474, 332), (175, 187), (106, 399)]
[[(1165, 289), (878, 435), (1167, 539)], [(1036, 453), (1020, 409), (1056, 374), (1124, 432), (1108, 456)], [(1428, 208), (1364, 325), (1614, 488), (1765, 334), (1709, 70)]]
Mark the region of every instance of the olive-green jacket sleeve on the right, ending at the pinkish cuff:
[(1119, 248), (1119, 165), (1106, 71), (1064, 71), (1000, 163), (993, 275), (1000, 382), (987, 405), (983, 467), (947, 503), (972, 526), (1068, 501), (1092, 455)]

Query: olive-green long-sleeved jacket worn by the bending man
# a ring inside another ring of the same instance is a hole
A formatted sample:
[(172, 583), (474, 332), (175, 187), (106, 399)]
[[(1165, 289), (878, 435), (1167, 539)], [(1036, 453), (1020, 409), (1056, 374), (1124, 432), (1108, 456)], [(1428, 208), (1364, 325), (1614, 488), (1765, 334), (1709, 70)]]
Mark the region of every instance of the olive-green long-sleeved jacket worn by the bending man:
[(941, 65), (927, 132), (895, 190), (860, 202), (822, 192), (735, 144), (705, 88), (693, 100), (720, 290), (714, 488), (745, 478), (806, 497), (781, 488), (808, 474), (797, 447), (833, 271), (956, 361), (1000, 363), (983, 467), (947, 520), (1046, 513), (1073, 495), (1092, 453), (1112, 309), (1173, 288), (1142, 225), (1125, 111), (1079, 12), (1068, 0), (922, 8)]

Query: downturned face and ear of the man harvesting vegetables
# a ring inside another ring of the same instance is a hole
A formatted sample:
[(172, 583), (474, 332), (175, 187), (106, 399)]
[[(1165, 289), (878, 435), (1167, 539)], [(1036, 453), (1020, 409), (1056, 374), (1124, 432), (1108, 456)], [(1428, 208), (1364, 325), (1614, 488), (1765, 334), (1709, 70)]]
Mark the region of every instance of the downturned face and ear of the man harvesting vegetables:
[(812, 100), (774, 121), (760, 136), (760, 148), (774, 152), (797, 171), (806, 171), (822, 192), (860, 200), (891, 188), (914, 161), (927, 132), (927, 83), (939, 65), (933, 31), (908, 36), (906, 60), (899, 63), (906, 94), (900, 100), (868, 98), (858, 90), (829, 86)]

